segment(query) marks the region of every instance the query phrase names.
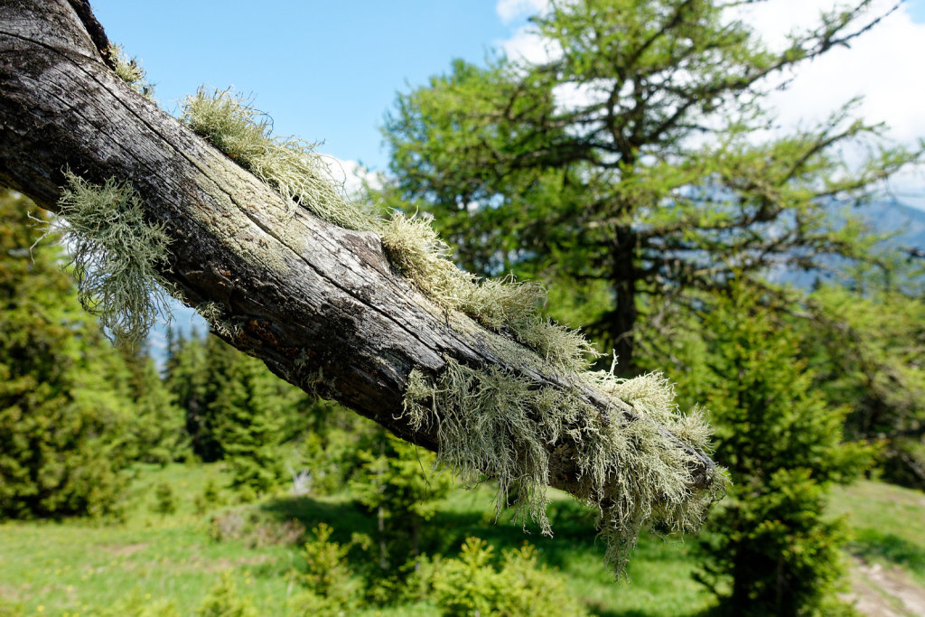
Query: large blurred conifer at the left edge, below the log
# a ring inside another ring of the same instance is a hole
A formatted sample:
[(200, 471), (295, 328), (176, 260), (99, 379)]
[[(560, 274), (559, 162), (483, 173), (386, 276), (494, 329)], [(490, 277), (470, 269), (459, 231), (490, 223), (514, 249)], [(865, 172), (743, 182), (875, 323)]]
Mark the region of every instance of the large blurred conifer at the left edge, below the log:
[(0, 193), (0, 518), (103, 514), (126, 484), (125, 365), (53, 239)]

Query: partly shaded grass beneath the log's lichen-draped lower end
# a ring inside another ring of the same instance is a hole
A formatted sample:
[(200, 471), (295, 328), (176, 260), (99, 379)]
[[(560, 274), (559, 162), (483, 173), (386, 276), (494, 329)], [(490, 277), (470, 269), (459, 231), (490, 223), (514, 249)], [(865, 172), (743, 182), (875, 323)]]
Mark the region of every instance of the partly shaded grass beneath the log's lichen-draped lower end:
[[(549, 506), (555, 537), (549, 538), (541, 536), (535, 525), (528, 525), (529, 533), (524, 534), (523, 525), (514, 523), (510, 513), (502, 514), (496, 524), (493, 487), (454, 490), (422, 531), (422, 549), (454, 555), (470, 536), (487, 540), (498, 552), (528, 541), (536, 546), (540, 561), (558, 569), (566, 586), (600, 615), (695, 615), (711, 606), (709, 593), (691, 578), (696, 563), (687, 554), (688, 545), (678, 539), (664, 541), (644, 534), (627, 569), (629, 582), (615, 582), (611, 568), (601, 559), (605, 547), (595, 534), (594, 512), (564, 493), (555, 493)], [(352, 531), (375, 533), (375, 520), (346, 496), (271, 500), (263, 508), (279, 520), (296, 518), (306, 527), (327, 523), (335, 530), (332, 539), (341, 543), (350, 540)]]

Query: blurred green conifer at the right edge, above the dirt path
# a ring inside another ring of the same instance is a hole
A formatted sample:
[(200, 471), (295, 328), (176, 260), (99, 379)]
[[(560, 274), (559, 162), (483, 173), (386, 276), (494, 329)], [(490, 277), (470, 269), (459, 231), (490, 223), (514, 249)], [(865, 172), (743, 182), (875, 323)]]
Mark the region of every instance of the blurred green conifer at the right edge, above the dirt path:
[(807, 352), (821, 391), (851, 409), (845, 433), (882, 446), (883, 478), (925, 489), (925, 298), (868, 288), (810, 296), (828, 319), (808, 328)]

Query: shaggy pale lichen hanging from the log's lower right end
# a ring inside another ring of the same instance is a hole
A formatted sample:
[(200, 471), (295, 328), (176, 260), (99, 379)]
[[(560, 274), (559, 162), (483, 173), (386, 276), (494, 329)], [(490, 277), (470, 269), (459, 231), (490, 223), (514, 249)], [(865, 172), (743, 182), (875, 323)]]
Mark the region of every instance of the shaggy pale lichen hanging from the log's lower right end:
[(615, 404), (605, 418), (577, 389), (537, 389), (499, 368), (473, 369), (451, 359), (434, 379), (412, 372), (405, 410), (412, 426), (437, 423), (438, 461), (466, 486), (483, 474), (496, 478), (499, 510), (515, 489), (519, 513), (529, 513), (549, 535), (549, 452), (571, 448), (582, 487), (577, 497), (598, 507), (606, 558), (619, 574), (640, 528), (696, 531), (722, 497), (724, 480), (693, 488), (693, 456), (666, 429), (697, 438), (687, 443), (705, 450), (709, 428), (699, 413), (678, 412), (662, 376), (623, 380), (602, 372), (586, 380), (615, 403), (632, 405), (637, 417)]

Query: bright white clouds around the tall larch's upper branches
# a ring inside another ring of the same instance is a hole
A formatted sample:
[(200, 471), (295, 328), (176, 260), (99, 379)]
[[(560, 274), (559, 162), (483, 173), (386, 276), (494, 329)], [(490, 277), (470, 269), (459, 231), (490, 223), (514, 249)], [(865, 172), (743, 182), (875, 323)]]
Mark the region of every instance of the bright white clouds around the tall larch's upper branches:
[[(874, 0), (870, 15), (884, 14), (893, 5), (893, 0)], [(547, 3), (499, 0), (498, 13), (502, 20), (509, 21), (515, 10), (535, 10), (538, 6), (545, 7)], [(820, 14), (834, 6), (839, 5), (833, 0), (775, 0), (748, 3), (734, 17), (749, 24), (772, 49), (780, 50), (786, 45), (788, 33), (817, 23)], [(548, 61), (562, 53), (561, 48), (545, 42), (529, 26), (499, 44), (508, 57), (528, 62)], [(857, 117), (883, 123), (888, 128), (888, 139), (913, 145), (925, 137), (925, 80), (918, 77), (922, 58), (925, 24), (915, 23), (904, 3), (850, 46), (834, 48), (796, 68), (789, 86), (772, 92), (768, 104), (780, 130), (790, 131), (824, 120), (851, 99), (861, 97)], [(556, 95), (560, 105), (581, 105), (594, 98), (593, 90), (568, 85), (559, 88)], [(890, 189), (902, 201), (925, 207), (923, 179), (925, 172), (910, 169), (897, 176)]]

